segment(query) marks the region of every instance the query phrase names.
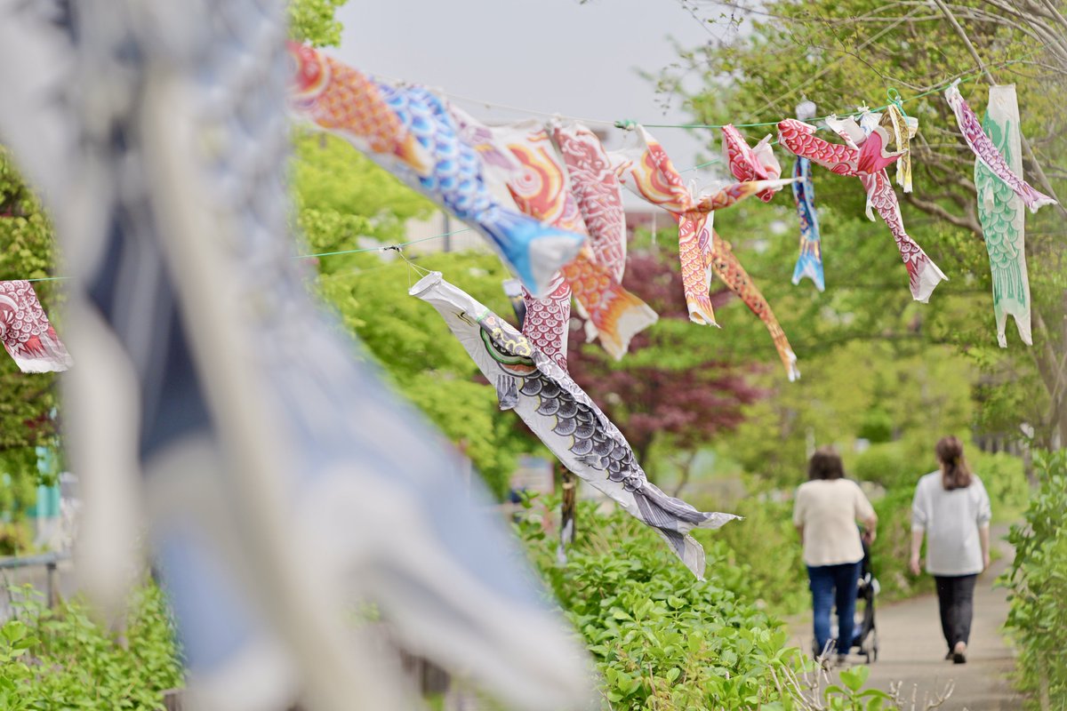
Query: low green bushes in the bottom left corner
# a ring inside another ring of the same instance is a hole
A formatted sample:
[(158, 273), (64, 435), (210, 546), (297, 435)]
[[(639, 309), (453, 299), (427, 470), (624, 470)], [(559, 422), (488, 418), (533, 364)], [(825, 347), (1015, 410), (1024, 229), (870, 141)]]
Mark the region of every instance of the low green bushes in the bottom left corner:
[(31, 587), (13, 589), (15, 616), (0, 627), (0, 709), (162, 708), (181, 684), (173, 628), (159, 588), (131, 600), (124, 641), (78, 602), (46, 609)]

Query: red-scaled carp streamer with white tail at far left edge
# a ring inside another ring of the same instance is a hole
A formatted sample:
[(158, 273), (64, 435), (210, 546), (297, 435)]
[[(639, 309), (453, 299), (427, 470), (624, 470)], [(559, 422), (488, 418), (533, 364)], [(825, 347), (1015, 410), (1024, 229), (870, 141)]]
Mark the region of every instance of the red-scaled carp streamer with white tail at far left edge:
[(60, 372), (73, 365), (26, 280), (0, 281), (0, 341), (23, 373)]

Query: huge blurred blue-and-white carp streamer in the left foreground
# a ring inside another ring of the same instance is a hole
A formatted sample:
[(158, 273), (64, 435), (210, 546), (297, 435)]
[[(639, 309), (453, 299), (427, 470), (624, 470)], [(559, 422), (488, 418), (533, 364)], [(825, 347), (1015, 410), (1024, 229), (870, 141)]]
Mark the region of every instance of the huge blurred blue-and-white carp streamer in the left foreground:
[(584, 708), (587, 660), (503, 524), (308, 295), (284, 13), (0, 0), (0, 140), (71, 275), (84, 584), (114, 610), (148, 532), (191, 708), (417, 708), (379, 626), (351, 621), (367, 600), (513, 708)]

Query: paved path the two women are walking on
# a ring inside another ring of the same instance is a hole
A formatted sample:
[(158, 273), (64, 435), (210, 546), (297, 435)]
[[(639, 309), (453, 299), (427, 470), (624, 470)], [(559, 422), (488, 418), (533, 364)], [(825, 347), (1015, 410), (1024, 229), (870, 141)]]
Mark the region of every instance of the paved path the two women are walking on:
[[(1014, 668), (1014, 652), (1001, 626), (1007, 617), (1007, 591), (994, 588), (993, 581), (1012, 560), (1012, 548), (1001, 537), (1006, 527), (992, 531), (994, 545), (1003, 556), (978, 578), (974, 588), (974, 621), (967, 664), (944, 660), (946, 646), (941, 635), (937, 596), (925, 595), (895, 604), (876, 608), (880, 651), (871, 664), (867, 685), (889, 691), (890, 684), (903, 682), (908, 707), (912, 695), (918, 710), (924, 697), (935, 699), (945, 684), (955, 683), (952, 696), (940, 707), (944, 710), (1002, 711), (1021, 709), (1022, 699), (1012, 689), (1008, 675)], [(794, 643), (811, 648), (811, 618), (793, 626)], [(850, 658), (862, 663), (862, 658)]]

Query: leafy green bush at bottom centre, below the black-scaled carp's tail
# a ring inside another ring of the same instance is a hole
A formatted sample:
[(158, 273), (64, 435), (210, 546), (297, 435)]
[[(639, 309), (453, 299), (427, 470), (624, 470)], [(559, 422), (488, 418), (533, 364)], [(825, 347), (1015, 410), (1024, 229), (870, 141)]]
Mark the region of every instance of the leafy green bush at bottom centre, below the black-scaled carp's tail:
[(562, 567), (540, 523), (520, 531), (584, 635), (611, 709), (795, 708), (781, 682), (802, 656), (786, 646), (783, 624), (742, 594), (747, 576), (726, 546), (705, 542), (707, 580), (698, 581), (628, 515), (583, 504), (578, 521)]

